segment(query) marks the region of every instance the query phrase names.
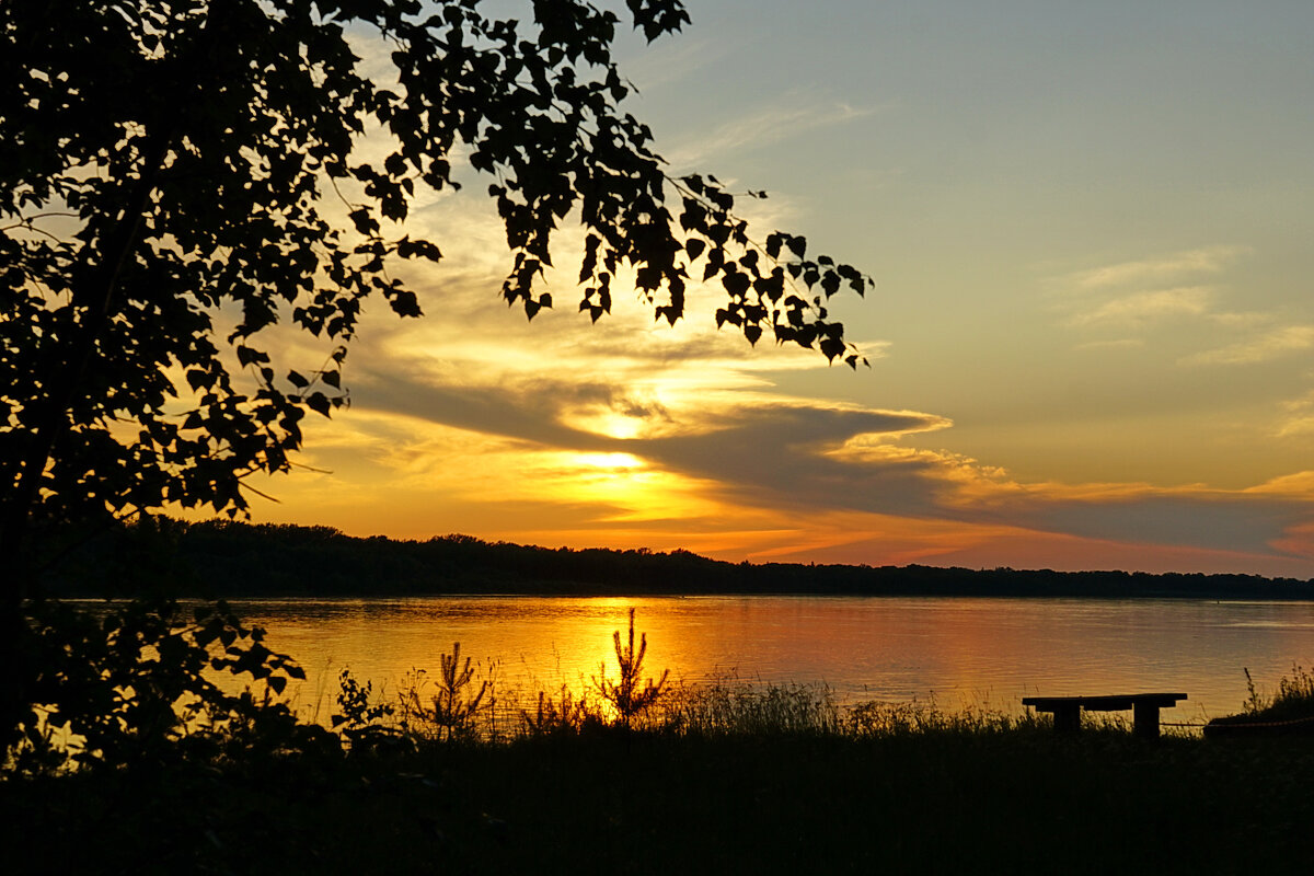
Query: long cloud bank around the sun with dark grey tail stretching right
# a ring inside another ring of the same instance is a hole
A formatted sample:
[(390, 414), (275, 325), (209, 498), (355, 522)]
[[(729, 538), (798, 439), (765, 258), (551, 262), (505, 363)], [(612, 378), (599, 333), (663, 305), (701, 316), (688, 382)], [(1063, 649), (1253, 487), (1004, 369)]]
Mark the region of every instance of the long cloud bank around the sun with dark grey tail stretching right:
[[(572, 338), (589, 343), (576, 347)], [(355, 372), (357, 408), (510, 443), (512, 449), (501, 461), (485, 460), (485, 468), (514, 469), (516, 453), (629, 454), (640, 462), (635, 475), (668, 478), (668, 495), (685, 485), (689, 504), (696, 495), (735, 516), (754, 508), (800, 517), (905, 515), (1096, 538), (1215, 540), (1247, 550), (1298, 523), (1290, 506), (1300, 496), (1289, 485), (1226, 494), (1200, 485), (1020, 482), (971, 457), (913, 447), (949, 428), (943, 416), (788, 397), (725, 356), (715, 334), (698, 336), (687, 348), (698, 351), (691, 359), (660, 352), (665, 340), (628, 330), (615, 345), (610, 338), (585, 330), (543, 338), (547, 349), (512, 343), (510, 362), (498, 361), (505, 341), (487, 349), (459, 344), (456, 359), (438, 344), (428, 357), (423, 344), (384, 344), (384, 355)], [(426, 454), (443, 457), (442, 443), (393, 443), (378, 458), (398, 469)], [(539, 464), (522, 468), (545, 477)], [(619, 485), (618, 477), (604, 482)], [(562, 496), (570, 491), (568, 478), (552, 482)], [(607, 493), (599, 520), (645, 514), (650, 495), (635, 477), (624, 483), (629, 493)]]

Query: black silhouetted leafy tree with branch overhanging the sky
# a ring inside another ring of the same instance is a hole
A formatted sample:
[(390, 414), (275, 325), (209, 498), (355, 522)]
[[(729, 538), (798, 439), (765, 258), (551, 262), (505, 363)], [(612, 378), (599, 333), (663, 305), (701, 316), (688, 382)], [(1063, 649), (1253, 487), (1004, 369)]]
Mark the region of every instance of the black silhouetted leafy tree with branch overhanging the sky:
[[(689, 21), (678, 0), (625, 5), (649, 41)], [(406, 219), (464, 164), (491, 180), (502, 297), (531, 319), (553, 303), (553, 235), (578, 217), (591, 319), (622, 271), (671, 323), (691, 282), (717, 282), (717, 324), (861, 361), (825, 299), (870, 280), (802, 236), (750, 238), (715, 177), (666, 173), (620, 108), (620, 17), (582, 0), (526, 12), (0, 4), (0, 659), (25, 636), (46, 533), (168, 503), (238, 514), (243, 477), (289, 468), (306, 411), (344, 403), (367, 299), (420, 315), (389, 268), (442, 260)], [(331, 353), (276, 364), (263, 332), (279, 322)]]

